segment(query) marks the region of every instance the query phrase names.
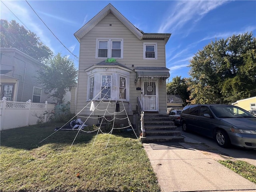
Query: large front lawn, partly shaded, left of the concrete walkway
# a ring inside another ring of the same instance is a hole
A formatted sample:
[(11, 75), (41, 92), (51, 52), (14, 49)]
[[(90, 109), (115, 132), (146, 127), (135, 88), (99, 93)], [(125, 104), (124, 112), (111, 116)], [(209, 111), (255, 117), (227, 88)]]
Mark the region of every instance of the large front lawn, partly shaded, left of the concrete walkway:
[(1, 131), (0, 191), (160, 192), (133, 132), (79, 132), (71, 146), (77, 131), (59, 130), (39, 144), (54, 128)]

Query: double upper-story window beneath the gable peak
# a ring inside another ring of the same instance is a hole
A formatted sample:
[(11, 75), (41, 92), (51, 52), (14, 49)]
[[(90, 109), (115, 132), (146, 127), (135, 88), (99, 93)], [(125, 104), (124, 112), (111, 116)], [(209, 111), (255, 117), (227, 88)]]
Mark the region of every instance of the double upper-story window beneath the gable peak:
[(123, 40), (97, 39), (96, 58), (123, 58)]

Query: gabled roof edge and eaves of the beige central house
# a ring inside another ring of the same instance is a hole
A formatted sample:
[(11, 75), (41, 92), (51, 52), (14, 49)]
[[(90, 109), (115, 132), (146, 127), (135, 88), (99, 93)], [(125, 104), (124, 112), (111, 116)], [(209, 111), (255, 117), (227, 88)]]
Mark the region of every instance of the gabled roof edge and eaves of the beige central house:
[(112, 4), (108, 4), (104, 9), (102, 9), (96, 16), (94, 16), (90, 21), (88, 21), (82, 28), (74, 33), (76, 39), (80, 42), (81, 38), (85, 36), (92, 28), (94, 28), (104, 17), (109, 13), (112, 13), (124, 26), (126, 26), (139, 40), (156, 38), (164, 39), (167, 43), (171, 34), (169, 33), (144, 33), (142, 30), (136, 28), (130, 21), (128, 21)]

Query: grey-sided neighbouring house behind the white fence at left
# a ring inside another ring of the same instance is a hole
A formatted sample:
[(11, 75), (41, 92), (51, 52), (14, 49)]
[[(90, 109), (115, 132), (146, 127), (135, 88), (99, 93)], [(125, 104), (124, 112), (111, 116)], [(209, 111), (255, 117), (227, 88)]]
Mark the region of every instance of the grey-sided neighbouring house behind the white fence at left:
[(36, 82), (37, 71), (43, 66), (34, 58), (16, 48), (0, 48), (1, 99), (33, 103), (53, 103), (49, 90)]

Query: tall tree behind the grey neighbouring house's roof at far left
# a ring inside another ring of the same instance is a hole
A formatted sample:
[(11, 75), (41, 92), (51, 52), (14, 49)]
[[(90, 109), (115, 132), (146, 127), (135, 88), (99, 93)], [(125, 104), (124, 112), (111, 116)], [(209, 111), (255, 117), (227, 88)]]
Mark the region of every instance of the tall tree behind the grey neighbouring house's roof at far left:
[(47, 46), (40, 42), (40, 38), (34, 32), (26, 30), (15, 20), (8, 22), (1, 19), (0, 24), (1, 47), (17, 48), (40, 62), (53, 54)]

